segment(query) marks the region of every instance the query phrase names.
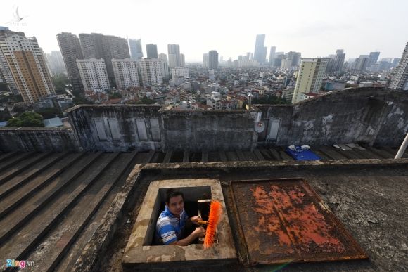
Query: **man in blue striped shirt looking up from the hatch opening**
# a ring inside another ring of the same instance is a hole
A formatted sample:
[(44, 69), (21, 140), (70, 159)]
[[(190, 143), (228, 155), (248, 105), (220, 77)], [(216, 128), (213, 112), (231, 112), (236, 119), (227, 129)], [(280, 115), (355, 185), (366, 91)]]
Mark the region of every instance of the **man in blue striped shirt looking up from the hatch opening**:
[[(203, 237), (205, 230), (198, 225), (200, 216), (193, 216), (189, 219), (184, 211), (183, 193), (169, 189), (166, 192), (166, 207), (160, 214), (156, 223), (155, 242), (158, 245), (190, 245), (196, 238)], [(186, 222), (191, 221), (198, 227), (187, 237), (185, 226)]]

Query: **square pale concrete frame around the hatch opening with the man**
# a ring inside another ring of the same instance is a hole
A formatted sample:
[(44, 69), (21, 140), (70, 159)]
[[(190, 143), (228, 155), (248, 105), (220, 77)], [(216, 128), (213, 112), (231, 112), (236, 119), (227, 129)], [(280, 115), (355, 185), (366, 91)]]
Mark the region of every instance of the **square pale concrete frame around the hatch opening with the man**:
[[(223, 216), (217, 227), (218, 243), (204, 250), (202, 244), (186, 247), (179, 245), (151, 245), (155, 231), (155, 223), (160, 214), (160, 204), (164, 202), (164, 190), (177, 188), (184, 193), (185, 201), (189, 195), (198, 195), (210, 189), (212, 199), (222, 203)], [(207, 188), (207, 189), (206, 189)], [(186, 194), (189, 193), (189, 194)], [(236, 263), (236, 251), (231, 228), (218, 179), (173, 179), (153, 181), (144, 197), (143, 205), (127, 242), (122, 265), (134, 268), (163, 268), (166, 263), (193, 264), (231, 264)]]

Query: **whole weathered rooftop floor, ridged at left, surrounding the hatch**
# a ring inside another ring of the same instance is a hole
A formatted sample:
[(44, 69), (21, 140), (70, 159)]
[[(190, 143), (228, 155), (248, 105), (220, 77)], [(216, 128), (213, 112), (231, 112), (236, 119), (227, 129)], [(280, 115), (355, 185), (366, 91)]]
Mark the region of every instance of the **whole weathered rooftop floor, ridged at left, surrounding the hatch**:
[[(0, 154), (0, 258), (34, 261), (34, 271), (123, 271), (127, 240), (151, 181), (218, 179), (237, 259), (217, 264), (217, 269), (270, 271), (277, 267), (246, 265), (229, 183), (300, 177), (370, 259), (287, 264), (284, 271), (404, 271), (408, 160), (390, 160), (393, 148), (312, 149), (325, 160), (294, 161), (281, 148), (250, 153)], [(208, 266), (181, 263), (166, 269), (208, 271)]]

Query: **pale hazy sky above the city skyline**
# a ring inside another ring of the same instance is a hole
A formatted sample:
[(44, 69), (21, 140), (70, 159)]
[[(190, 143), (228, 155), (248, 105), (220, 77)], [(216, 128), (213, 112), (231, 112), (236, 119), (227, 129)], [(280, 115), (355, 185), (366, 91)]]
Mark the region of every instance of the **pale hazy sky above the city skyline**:
[[(13, 8), (23, 17), (18, 24)], [(0, 26), (35, 36), (44, 51), (58, 50), (56, 34), (98, 32), (141, 38), (167, 54), (179, 44), (186, 61), (218, 51), (224, 60), (253, 52), (256, 34), (276, 51), (328, 56), (343, 48), (348, 58), (380, 51), (400, 58), (408, 41), (408, 0), (1, 0)], [(14, 24), (14, 25), (12, 25)]]

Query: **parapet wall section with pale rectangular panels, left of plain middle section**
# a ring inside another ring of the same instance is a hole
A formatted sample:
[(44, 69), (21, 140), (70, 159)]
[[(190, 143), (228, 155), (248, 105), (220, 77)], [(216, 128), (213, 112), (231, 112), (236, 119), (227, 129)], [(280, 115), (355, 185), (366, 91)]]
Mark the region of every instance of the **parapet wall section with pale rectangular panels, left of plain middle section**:
[(160, 150), (160, 105), (79, 105), (68, 110), (84, 150)]

